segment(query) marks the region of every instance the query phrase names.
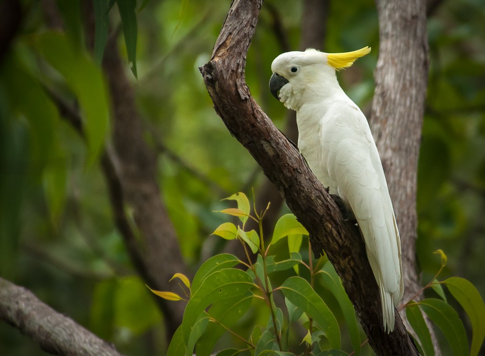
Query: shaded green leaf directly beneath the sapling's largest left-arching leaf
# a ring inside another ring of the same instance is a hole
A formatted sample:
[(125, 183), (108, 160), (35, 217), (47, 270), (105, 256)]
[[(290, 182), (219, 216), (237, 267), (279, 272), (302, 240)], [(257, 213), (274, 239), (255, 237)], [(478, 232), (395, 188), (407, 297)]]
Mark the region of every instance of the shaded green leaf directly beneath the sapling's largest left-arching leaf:
[(217, 341), (227, 329), (236, 325), (239, 319), (248, 311), (252, 300), (253, 294), (248, 291), (246, 294), (214, 303), (207, 311), (207, 314), (216, 319), (225, 328), (217, 323), (209, 324), (203, 337), (197, 341), (196, 355), (209, 356)]

